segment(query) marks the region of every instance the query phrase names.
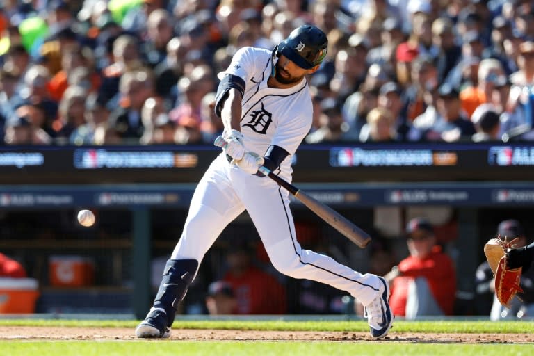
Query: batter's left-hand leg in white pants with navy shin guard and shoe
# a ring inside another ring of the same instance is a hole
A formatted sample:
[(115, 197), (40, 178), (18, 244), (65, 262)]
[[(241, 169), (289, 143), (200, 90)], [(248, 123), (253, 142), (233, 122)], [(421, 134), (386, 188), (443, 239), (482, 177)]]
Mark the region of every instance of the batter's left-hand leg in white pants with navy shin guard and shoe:
[(179, 302), (193, 282), (207, 250), (223, 229), (243, 212), (225, 175), (227, 161), (214, 161), (200, 180), (175, 250), (165, 265), (154, 305), (136, 328), (136, 336), (169, 337)]

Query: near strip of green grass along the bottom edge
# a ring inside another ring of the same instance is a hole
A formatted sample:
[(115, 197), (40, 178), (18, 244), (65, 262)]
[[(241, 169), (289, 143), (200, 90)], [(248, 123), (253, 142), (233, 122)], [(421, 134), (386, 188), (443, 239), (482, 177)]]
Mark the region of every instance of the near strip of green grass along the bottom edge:
[[(3, 353), (7, 351), (7, 353)], [(451, 345), (348, 342), (172, 342), (172, 341), (54, 341), (0, 343), (3, 355), (532, 355), (532, 345)]]

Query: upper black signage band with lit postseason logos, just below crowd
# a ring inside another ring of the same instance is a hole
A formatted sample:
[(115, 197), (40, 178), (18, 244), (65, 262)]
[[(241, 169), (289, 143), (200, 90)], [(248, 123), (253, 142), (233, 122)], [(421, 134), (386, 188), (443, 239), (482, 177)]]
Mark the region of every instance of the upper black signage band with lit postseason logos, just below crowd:
[[(212, 145), (3, 146), (0, 184), (195, 183), (220, 152)], [(302, 183), (534, 181), (534, 143), (302, 145), (293, 165), (293, 181)]]

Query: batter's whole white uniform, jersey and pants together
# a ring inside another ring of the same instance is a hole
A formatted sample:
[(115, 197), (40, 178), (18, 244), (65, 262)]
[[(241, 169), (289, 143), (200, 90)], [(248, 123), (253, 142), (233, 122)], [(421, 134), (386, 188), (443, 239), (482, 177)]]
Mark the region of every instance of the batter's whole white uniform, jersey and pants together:
[[(270, 56), (266, 49), (244, 47), (225, 73), (245, 81), (241, 133), (246, 149), (261, 155), (270, 145), (285, 149), (289, 156), (276, 173), (290, 181), (291, 156), (312, 125), (312, 99), (306, 79), (289, 89), (268, 88)], [(223, 229), (246, 209), (277, 270), (330, 284), (368, 305), (378, 296), (378, 277), (362, 275), (323, 254), (302, 250), (289, 202), (289, 193), (275, 181), (244, 172), (221, 153), (195, 189), (184, 231), (171, 258), (200, 263)]]

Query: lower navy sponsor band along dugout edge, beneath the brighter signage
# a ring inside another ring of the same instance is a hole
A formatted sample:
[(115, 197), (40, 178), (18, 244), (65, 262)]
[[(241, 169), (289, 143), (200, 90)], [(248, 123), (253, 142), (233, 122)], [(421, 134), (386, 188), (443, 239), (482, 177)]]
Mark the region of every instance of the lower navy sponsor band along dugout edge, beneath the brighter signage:
[[(377, 205), (446, 205), (449, 207), (532, 206), (534, 184), (301, 184), (316, 200), (332, 207)], [(0, 186), (0, 208), (59, 207), (187, 207), (195, 184), (122, 184), (76, 186)], [(301, 207), (293, 200), (295, 207)]]

